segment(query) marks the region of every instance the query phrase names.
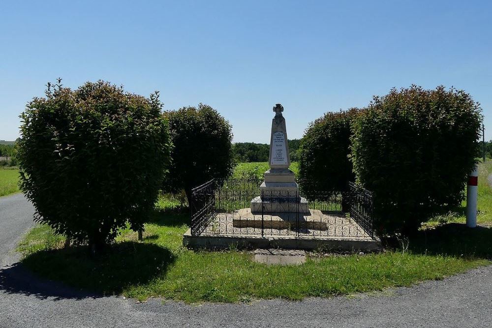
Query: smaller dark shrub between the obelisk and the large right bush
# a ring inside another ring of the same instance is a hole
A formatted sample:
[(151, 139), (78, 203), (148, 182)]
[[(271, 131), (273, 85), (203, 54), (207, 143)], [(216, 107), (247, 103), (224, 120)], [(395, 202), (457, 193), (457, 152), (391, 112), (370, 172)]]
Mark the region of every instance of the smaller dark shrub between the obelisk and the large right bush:
[[(350, 122), (360, 112), (352, 108), (326, 113), (307, 127), (299, 150), (299, 177), (316, 181), (314, 194), (345, 190), (348, 181), (355, 180), (349, 159)], [(309, 188), (309, 184), (304, 188)]]

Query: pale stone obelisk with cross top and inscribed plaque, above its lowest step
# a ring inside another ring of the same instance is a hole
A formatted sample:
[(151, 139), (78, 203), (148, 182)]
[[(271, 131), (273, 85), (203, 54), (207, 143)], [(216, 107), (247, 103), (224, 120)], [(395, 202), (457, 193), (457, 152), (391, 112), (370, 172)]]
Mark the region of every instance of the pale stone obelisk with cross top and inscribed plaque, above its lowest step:
[(282, 105), (276, 104), (274, 112), (268, 159), (270, 170), (264, 174), (265, 180), (260, 186), (261, 196), (251, 201), (251, 212), (307, 213), (309, 212), (307, 200), (299, 196), (299, 185), (296, 182), (294, 172), (289, 170), (289, 144), (285, 119), (282, 115)]

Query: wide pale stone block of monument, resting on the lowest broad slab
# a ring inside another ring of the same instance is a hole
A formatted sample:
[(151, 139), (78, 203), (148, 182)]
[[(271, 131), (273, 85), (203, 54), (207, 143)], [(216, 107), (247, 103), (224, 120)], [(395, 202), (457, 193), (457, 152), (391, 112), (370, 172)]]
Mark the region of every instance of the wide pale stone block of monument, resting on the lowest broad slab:
[[(295, 194), (294, 194), (295, 195)], [(248, 209), (249, 210), (249, 209)], [(261, 196), (253, 198), (251, 201), (251, 212), (261, 213), (309, 213), (307, 200), (304, 197), (285, 196), (278, 194), (274, 197)]]

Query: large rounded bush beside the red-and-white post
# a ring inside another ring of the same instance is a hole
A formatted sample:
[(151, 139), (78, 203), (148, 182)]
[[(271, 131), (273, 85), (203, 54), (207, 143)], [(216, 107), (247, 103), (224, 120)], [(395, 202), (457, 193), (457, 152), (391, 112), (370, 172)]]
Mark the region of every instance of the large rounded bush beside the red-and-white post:
[(415, 231), (463, 199), (480, 135), (479, 104), (456, 89), (392, 89), (352, 124), (359, 183), (374, 193), (380, 230)]

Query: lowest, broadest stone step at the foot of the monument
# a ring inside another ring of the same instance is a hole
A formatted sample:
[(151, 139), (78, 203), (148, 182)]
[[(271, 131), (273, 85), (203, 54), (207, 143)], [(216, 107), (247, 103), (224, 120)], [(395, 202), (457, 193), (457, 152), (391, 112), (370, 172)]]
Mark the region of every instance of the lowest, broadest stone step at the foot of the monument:
[(263, 229), (307, 229), (328, 230), (328, 215), (324, 215), (318, 209), (308, 210), (307, 213), (271, 213), (264, 216), (251, 213), (251, 209), (240, 209), (234, 214), (232, 226), (234, 228), (262, 228)]

